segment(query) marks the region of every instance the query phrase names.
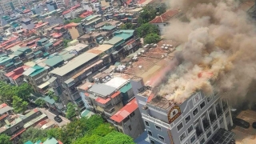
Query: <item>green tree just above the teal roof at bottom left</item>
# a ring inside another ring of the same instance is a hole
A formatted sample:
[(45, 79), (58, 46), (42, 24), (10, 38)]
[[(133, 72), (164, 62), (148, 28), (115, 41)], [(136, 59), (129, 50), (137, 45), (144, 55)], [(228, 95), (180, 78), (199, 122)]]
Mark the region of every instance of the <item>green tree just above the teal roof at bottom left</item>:
[(30, 127), (28, 130), (22, 133), (20, 143), (25, 143), (27, 141), (37, 142), (38, 140), (41, 140), (43, 142), (46, 140), (46, 138), (48, 138), (47, 130)]

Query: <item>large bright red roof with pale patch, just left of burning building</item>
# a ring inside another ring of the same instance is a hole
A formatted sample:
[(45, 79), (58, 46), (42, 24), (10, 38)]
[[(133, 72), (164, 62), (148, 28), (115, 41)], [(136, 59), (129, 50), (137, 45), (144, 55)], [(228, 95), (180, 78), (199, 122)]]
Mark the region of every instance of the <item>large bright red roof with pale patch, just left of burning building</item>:
[(122, 122), (126, 117), (128, 117), (134, 110), (138, 109), (138, 104), (136, 98), (131, 100), (126, 106), (123, 106), (116, 114), (114, 114), (111, 119), (115, 122)]

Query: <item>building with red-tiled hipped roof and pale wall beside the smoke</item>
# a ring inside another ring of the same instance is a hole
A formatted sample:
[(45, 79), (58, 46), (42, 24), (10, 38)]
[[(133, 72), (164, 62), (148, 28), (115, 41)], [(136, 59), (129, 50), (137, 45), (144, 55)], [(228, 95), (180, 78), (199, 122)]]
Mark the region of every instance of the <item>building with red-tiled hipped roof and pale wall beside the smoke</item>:
[(171, 18), (178, 18), (182, 13), (179, 10), (167, 10), (164, 14), (161, 14), (150, 21), (151, 24), (158, 26), (160, 34), (164, 34), (164, 28), (170, 25)]

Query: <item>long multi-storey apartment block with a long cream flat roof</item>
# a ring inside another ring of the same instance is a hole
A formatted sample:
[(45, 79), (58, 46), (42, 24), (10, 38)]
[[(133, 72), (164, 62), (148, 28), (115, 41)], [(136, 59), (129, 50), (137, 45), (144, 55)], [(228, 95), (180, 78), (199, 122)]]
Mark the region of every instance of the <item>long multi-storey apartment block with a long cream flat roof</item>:
[(104, 66), (110, 65), (110, 50), (113, 46), (101, 45), (78, 55), (72, 61), (62, 67), (58, 67), (50, 74), (54, 80), (50, 85), (54, 93), (62, 99), (62, 102), (75, 102), (80, 106), (80, 95), (77, 86)]

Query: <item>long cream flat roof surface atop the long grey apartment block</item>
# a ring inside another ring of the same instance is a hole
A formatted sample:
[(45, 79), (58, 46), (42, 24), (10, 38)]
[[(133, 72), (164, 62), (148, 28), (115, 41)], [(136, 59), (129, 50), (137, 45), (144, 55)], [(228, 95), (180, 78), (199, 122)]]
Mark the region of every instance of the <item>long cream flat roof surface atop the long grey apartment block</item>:
[(78, 57), (72, 59), (66, 65), (50, 71), (50, 74), (57, 74), (59, 76), (64, 76), (65, 74), (70, 73), (72, 70), (75, 70), (79, 66), (82, 66), (83, 64), (85, 64), (86, 62), (89, 62), (91, 59), (97, 56), (98, 54), (85, 52), (83, 54), (78, 55)]

